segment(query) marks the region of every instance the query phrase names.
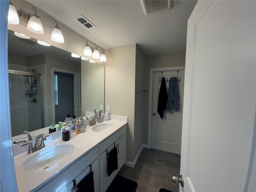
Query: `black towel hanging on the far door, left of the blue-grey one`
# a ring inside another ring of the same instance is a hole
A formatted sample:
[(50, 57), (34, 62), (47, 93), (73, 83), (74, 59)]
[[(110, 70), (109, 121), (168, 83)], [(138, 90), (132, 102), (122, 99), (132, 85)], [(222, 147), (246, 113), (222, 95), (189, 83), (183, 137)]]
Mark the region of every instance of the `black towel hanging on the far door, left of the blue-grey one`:
[(163, 119), (163, 116), (164, 116), (166, 103), (167, 103), (167, 91), (166, 91), (165, 78), (163, 77), (160, 90), (159, 90), (158, 107), (157, 107), (157, 112), (160, 115), (161, 119)]

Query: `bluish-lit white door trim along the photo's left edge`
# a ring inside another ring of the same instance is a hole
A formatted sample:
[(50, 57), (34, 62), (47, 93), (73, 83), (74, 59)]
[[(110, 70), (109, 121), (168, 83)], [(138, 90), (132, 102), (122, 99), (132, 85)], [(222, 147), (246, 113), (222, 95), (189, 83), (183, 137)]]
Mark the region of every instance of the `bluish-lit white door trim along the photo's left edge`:
[(12, 129), (8, 80), (7, 15), (10, 1), (0, 1), (0, 190), (18, 191), (12, 152)]

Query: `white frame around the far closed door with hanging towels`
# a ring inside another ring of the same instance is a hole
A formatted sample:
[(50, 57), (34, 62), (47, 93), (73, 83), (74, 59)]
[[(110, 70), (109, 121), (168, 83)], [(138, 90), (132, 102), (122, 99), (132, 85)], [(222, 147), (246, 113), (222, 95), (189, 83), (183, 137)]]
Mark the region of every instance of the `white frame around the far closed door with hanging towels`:
[[(153, 107), (153, 79), (154, 72), (160, 71), (177, 71), (183, 70), (185, 72), (185, 66), (180, 67), (162, 67), (162, 68), (150, 68), (149, 78), (149, 100), (148, 100), (148, 148), (151, 148), (151, 136), (152, 136), (152, 107)], [(184, 85), (183, 85), (184, 86)]]

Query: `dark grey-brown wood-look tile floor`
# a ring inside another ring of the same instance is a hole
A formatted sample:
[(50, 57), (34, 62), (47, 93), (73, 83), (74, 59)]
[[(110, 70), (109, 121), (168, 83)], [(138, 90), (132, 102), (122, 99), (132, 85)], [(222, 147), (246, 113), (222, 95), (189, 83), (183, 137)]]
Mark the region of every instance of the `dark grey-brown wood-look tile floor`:
[(118, 174), (137, 182), (136, 192), (159, 192), (160, 188), (178, 192), (172, 176), (180, 175), (180, 155), (144, 148), (134, 168), (124, 165)]

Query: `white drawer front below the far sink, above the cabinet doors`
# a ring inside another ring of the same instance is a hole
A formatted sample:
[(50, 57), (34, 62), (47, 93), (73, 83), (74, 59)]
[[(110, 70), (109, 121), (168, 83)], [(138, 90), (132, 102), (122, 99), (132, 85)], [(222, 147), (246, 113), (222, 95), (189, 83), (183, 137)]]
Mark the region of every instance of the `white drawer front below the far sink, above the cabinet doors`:
[(126, 133), (126, 125), (100, 143), (100, 154)]

